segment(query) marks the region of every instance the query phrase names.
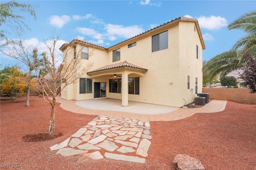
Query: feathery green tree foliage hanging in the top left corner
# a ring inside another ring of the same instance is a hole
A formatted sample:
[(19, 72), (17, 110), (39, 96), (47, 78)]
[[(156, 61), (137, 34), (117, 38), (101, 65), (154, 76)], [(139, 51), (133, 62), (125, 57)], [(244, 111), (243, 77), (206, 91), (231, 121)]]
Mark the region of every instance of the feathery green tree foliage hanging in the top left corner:
[[(18, 3), (15, 0), (9, 1), (5, 4), (0, 2), (0, 27), (5, 24), (12, 30), (23, 30), (28, 26), (23, 22), (24, 16), (20, 15), (22, 12), (28, 12), (36, 20), (36, 13), (30, 4)], [(0, 30), (0, 38), (3, 39), (8, 33), (7, 30)]]

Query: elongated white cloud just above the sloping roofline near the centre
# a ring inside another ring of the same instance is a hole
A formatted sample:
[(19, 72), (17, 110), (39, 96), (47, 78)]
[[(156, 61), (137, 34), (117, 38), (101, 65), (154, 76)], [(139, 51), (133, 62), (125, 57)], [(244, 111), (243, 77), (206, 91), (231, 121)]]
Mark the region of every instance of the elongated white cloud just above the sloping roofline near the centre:
[(107, 24), (104, 29), (107, 30), (109, 36), (120, 36), (124, 38), (132, 38), (144, 32), (143, 28), (136, 25), (124, 27), (122, 25)]

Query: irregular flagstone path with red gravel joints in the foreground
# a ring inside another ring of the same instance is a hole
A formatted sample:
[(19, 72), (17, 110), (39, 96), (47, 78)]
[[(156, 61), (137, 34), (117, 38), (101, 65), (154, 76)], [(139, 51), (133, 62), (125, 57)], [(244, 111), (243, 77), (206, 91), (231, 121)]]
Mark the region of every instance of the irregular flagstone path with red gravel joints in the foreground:
[(99, 116), (50, 149), (58, 150), (56, 154), (62, 156), (79, 154), (78, 161), (98, 160), (105, 156), (115, 160), (144, 163), (151, 138), (148, 121)]

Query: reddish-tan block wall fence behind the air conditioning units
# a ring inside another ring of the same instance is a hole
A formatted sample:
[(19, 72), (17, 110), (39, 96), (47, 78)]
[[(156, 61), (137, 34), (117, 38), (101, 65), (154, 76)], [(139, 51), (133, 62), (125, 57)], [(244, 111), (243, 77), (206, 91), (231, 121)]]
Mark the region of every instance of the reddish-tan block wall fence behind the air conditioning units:
[(250, 89), (202, 88), (202, 93), (209, 93), (209, 99), (256, 104), (256, 93), (250, 93)]

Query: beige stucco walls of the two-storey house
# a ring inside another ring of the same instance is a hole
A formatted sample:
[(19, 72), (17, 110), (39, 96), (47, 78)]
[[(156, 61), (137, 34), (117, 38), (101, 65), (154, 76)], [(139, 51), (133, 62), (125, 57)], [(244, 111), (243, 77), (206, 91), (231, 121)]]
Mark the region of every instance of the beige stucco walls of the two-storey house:
[[(166, 30), (168, 30), (168, 49), (152, 52), (152, 36)], [(134, 42), (136, 46), (128, 48), (128, 44)], [(200, 47), (200, 59), (196, 59), (196, 45)], [(191, 103), (192, 97), (195, 97), (195, 77), (198, 77), (198, 93), (202, 92), (202, 45), (197, 31), (194, 31), (194, 22), (176, 22), (134, 40), (120, 43), (108, 50), (94, 49), (95, 55), (89, 58), (89, 61), (94, 63), (92, 69), (113, 64), (112, 51), (118, 48), (121, 53), (120, 61), (126, 60), (148, 69), (146, 73), (128, 72), (128, 77), (140, 75), (140, 95), (129, 94), (129, 101), (182, 107), (184, 100), (188, 104)], [(94, 75), (93, 89), (94, 82), (106, 82), (106, 96), (122, 99), (122, 94), (109, 93), (108, 82), (110, 78), (113, 78), (110, 77), (113, 74), (122, 75), (122, 70), (99, 73), (98, 77), (97, 74)], [(190, 76), (190, 89), (187, 89), (188, 75)], [(90, 76), (84, 75), (84, 78), (90, 78)], [(170, 84), (170, 81), (173, 83)], [(68, 95), (72, 93), (72, 89), (74, 89), (74, 94)], [(67, 95), (64, 93), (62, 97), (71, 99), (72, 96), (74, 100), (93, 99), (93, 93), (79, 94), (79, 83), (69, 87)]]

